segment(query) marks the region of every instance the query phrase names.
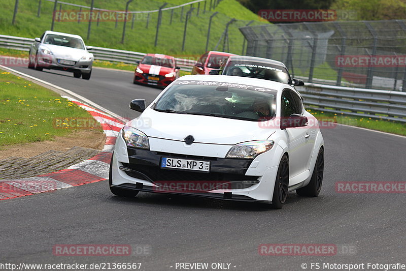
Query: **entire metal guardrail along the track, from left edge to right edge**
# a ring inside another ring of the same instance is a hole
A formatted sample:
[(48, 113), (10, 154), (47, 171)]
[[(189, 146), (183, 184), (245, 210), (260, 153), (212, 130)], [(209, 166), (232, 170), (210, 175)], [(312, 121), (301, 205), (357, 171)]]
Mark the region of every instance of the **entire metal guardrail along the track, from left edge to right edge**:
[[(34, 40), (0, 35), (0, 47), (28, 51)], [(101, 61), (134, 64), (145, 53), (93, 47), (94, 58)], [(191, 71), (195, 61), (176, 58), (182, 70)], [(406, 93), (356, 87), (306, 83), (297, 87), (306, 108), (337, 114), (387, 119), (406, 123)]]

